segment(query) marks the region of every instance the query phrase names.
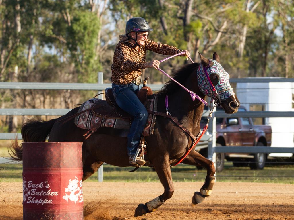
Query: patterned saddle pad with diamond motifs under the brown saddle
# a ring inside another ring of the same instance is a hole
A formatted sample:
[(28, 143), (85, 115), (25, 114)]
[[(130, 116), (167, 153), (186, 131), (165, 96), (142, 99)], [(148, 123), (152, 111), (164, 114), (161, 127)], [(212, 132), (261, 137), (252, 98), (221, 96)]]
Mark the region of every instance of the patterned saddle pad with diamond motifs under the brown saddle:
[[(157, 96), (153, 95), (151, 99), (146, 99), (144, 106), (152, 112), (157, 111)], [(94, 109), (93, 109), (94, 108)], [(86, 111), (87, 109), (91, 109)], [(105, 100), (92, 98), (85, 101), (79, 108), (78, 116), (75, 117), (76, 126), (88, 131), (97, 131), (98, 128), (108, 127), (117, 129), (130, 129), (132, 118), (121, 115), (121, 109), (117, 110), (110, 106)], [(128, 115), (126, 113), (126, 115)], [(156, 115), (149, 114), (144, 129), (144, 136), (153, 134)]]

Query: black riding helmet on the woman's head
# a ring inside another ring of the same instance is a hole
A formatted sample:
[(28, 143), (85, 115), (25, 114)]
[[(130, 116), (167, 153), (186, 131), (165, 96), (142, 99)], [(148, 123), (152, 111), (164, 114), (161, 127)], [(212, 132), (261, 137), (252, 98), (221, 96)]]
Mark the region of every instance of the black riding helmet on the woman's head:
[[(132, 31), (136, 32), (136, 39), (128, 35)], [(134, 40), (136, 42), (136, 45), (138, 45), (137, 32), (146, 32), (146, 31), (153, 31), (153, 29), (150, 28), (148, 22), (144, 18), (139, 18), (139, 17), (131, 18), (126, 23), (126, 35), (132, 40)]]

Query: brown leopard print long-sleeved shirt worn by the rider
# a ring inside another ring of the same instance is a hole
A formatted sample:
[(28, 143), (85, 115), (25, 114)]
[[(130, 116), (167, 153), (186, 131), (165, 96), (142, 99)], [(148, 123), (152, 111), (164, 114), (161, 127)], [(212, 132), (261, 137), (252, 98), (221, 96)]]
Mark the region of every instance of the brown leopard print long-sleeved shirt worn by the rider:
[(115, 84), (132, 83), (138, 76), (142, 75), (142, 70), (146, 67), (146, 50), (151, 50), (162, 55), (174, 55), (178, 48), (167, 44), (157, 43), (147, 39), (144, 45), (140, 45), (139, 52), (134, 48), (134, 44), (129, 41), (120, 41), (114, 49), (113, 63), (111, 65), (111, 82)]

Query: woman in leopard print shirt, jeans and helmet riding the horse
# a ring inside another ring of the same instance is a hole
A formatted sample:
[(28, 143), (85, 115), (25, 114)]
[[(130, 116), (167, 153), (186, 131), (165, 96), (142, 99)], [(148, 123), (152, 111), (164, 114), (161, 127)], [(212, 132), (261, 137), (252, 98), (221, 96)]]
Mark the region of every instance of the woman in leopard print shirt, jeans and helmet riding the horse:
[[(180, 51), (176, 47), (148, 39), (149, 31), (153, 31), (153, 29), (144, 18), (128, 20), (126, 34), (119, 36), (120, 41), (114, 50), (113, 64), (111, 65), (111, 87), (116, 103), (121, 109), (133, 116), (127, 149), (129, 163), (138, 167), (145, 164), (145, 160), (138, 157), (138, 153), (139, 142), (148, 119), (147, 110), (136, 95), (141, 88), (141, 69), (152, 67), (157, 69), (160, 64), (158, 60), (145, 62), (146, 50), (163, 55), (174, 55)], [(188, 50), (185, 52), (182, 56), (190, 56)]]

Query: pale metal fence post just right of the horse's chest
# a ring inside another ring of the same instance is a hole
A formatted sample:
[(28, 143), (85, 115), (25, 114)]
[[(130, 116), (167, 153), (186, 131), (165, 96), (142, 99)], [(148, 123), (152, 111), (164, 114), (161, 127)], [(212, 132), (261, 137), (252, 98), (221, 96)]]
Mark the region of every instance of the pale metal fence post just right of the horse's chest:
[[(208, 159), (212, 160), (214, 166), (216, 167), (216, 153), (214, 153), (214, 147), (216, 146), (216, 117), (215, 117), (216, 108), (212, 112), (212, 121), (208, 124), (208, 133), (212, 137), (208, 141)], [(216, 175), (216, 174), (215, 174)]]

